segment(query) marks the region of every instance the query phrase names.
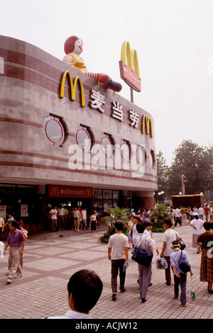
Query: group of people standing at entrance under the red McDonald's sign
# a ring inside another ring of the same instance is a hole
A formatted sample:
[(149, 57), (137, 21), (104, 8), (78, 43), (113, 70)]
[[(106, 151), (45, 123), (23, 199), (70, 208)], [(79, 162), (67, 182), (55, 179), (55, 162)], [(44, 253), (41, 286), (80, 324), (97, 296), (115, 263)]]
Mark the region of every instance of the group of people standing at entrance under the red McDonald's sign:
[(90, 228), (91, 235), (95, 235), (97, 225), (99, 224), (99, 212), (93, 210), (92, 214), (87, 214), (87, 208), (75, 207), (67, 209), (62, 205), (55, 205), (48, 213), (48, 220), (50, 222), (50, 232), (58, 232), (65, 230), (69, 227), (75, 232), (80, 229), (88, 230)]

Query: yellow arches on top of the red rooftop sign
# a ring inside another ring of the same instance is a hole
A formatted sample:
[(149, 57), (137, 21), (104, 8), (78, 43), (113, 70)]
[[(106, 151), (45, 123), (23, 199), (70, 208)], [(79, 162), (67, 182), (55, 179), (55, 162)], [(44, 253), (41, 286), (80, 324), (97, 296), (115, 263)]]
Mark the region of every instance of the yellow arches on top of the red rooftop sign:
[(138, 63), (138, 53), (135, 49), (131, 50), (129, 42), (122, 43), (121, 46), (121, 60), (124, 62), (125, 66), (129, 66), (131, 70), (140, 77), (139, 63)]

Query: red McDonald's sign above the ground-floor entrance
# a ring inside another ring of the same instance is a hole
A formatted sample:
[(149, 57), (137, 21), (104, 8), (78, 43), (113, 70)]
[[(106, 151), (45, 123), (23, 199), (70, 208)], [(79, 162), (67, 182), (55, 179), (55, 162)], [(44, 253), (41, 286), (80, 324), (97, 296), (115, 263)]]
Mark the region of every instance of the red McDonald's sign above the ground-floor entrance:
[(92, 188), (49, 185), (48, 196), (49, 198), (92, 198)]

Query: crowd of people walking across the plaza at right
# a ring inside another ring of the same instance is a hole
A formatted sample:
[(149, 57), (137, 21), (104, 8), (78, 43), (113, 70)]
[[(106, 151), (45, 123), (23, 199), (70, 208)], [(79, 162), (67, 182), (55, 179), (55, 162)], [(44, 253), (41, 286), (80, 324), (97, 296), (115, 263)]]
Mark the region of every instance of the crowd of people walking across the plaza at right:
[[(178, 298), (179, 287), (180, 303), (185, 307), (187, 303), (186, 283), (187, 272), (182, 271), (179, 267), (180, 260), (185, 261), (188, 271), (192, 276), (192, 269), (190, 258), (185, 251), (181, 249), (181, 237), (175, 230), (175, 222), (178, 219), (185, 221), (185, 210), (182, 208), (174, 208), (174, 210), (180, 210), (173, 220), (173, 215), (170, 219), (164, 220), (163, 228), (163, 244), (161, 251), (156, 247), (156, 243), (153, 239), (153, 233), (151, 232), (153, 223), (149, 219), (150, 211), (144, 210), (142, 213), (138, 210), (137, 213), (131, 210), (130, 222), (129, 222), (129, 235), (128, 237), (122, 233), (123, 223), (116, 222), (114, 224), (116, 233), (111, 235), (108, 242), (108, 259), (111, 261), (111, 290), (112, 300), (116, 300), (117, 294), (117, 277), (120, 278), (120, 290), (121, 293), (126, 291), (124, 286), (126, 278), (126, 267), (129, 266), (129, 249), (132, 249), (131, 253), (140, 246), (146, 252), (156, 252), (159, 256), (159, 263), (161, 267), (165, 269), (165, 283), (170, 286), (172, 277), (174, 276), (174, 297)], [(181, 211), (182, 210), (182, 211)], [(170, 212), (173, 212), (171, 208)], [(187, 210), (186, 210), (187, 211)], [(198, 213), (197, 213), (198, 211)], [(200, 281), (207, 282), (207, 291), (209, 294), (213, 293), (213, 252), (209, 253), (209, 249), (213, 245), (213, 221), (210, 222), (210, 216), (212, 214), (209, 208), (209, 216), (207, 213), (201, 214), (201, 211), (194, 208), (193, 215), (190, 215), (190, 226), (193, 228), (192, 247), (197, 247), (197, 253), (202, 252), (201, 264), (200, 264)], [(202, 219), (202, 220), (201, 220)], [(182, 223), (180, 222), (180, 225)], [(202, 229), (204, 228), (204, 229)], [(212, 249), (210, 249), (212, 251)], [(160, 266), (159, 266), (160, 267)], [(160, 269), (160, 268), (159, 268)], [(152, 264), (143, 265), (138, 262), (138, 283), (140, 289), (141, 302), (145, 303), (147, 298), (148, 287), (152, 285)]]

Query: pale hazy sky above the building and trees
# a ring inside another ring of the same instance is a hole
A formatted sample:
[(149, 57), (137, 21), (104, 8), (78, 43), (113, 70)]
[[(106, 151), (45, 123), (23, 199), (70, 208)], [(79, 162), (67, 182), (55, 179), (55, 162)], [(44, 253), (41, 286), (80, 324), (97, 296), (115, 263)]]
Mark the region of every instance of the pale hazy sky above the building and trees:
[[(91, 72), (120, 78), (121, 44), (136, 49), (142, 90), (134, 103), (151, 113), (156, 153), (168, 165), (182, 140), (213, 143), (212, 0), (0, 0), (0, 34), (62, 60), (70, 35), (84, 42)], [(1, 45), (0, 45), (1, 47)]]

